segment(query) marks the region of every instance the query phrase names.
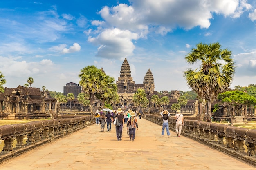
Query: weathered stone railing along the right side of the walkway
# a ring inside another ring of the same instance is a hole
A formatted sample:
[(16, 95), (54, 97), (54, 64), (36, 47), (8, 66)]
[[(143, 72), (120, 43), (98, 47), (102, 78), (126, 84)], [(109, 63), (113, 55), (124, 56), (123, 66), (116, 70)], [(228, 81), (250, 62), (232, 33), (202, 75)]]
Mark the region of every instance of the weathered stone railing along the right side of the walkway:
[[(162, 125), (162, 116), (143, 114), (143, 117)], [(169, 117), (169, 129), (175, 131), (176, 121)], [(256, 166), (256, 129), (184, 119), (182, 135), (237, 157)]]

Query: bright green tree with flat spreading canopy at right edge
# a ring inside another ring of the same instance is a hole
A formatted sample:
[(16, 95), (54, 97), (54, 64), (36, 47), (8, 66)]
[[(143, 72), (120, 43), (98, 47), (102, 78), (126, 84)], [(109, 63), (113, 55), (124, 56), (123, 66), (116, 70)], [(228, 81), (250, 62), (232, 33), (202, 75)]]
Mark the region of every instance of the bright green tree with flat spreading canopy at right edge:
[(226, 91), (218, 95), (218, 107), (215, 106), (214, 112), (220, 108), (225, 108), (230, 115), (230, 124), (233, 125), (233, 118), (242, 106), (255, 105), (256, 98), (242, 91)]

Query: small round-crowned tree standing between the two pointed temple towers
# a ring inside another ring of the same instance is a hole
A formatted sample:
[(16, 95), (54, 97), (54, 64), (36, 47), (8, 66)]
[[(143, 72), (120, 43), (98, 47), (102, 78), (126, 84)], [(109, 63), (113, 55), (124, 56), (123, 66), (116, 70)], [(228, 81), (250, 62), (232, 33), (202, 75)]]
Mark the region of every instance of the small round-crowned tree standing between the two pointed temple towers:
[(138, 111), (141, 110), (141, 108), (147, 107), (149, 104), (147, 95), (146, 95), (145, 91), (141, 88), (137, 89), (132, 100), (133, 100), (135, 106), (137, 106)]

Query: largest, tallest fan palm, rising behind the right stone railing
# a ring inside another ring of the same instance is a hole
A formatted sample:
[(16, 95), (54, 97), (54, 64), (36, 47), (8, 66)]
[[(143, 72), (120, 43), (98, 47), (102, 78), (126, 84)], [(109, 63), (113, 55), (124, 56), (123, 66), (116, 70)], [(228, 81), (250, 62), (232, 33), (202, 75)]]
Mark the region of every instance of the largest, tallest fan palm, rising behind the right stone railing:
[(220, 43), (197, 44), (196, 48), (185, 57), (189, 64), (200, 67), (184, 71), (188, 86), (207, 101), (207, 120), (211, 122), (211, 103), (217, 99), (219, 93), (226, 91), (234, 77), (235, 64), (231, 58), (231, 51), (221, 49)]

